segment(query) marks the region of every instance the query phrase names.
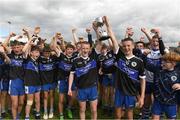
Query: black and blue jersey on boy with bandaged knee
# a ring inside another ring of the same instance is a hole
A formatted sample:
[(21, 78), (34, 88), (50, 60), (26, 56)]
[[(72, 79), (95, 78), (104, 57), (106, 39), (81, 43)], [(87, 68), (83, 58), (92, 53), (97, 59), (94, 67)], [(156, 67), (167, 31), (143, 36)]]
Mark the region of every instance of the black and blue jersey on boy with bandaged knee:
[(39, 62), (28, 57), (24, 61), (24, 84), (25, 86), (40, 86)]

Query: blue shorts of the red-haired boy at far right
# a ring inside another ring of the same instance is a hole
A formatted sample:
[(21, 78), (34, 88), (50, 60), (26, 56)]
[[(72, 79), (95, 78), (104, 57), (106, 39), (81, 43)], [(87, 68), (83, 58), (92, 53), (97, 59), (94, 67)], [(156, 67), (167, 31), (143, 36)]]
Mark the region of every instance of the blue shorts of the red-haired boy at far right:
[(166, 105), (162, 104), (157, 100), (154, 100), (152, 106), (152, 114), (153, 115), (161, 115), (165, 113), (168, 119), (175, 119), (177, 112), (177, 105)]

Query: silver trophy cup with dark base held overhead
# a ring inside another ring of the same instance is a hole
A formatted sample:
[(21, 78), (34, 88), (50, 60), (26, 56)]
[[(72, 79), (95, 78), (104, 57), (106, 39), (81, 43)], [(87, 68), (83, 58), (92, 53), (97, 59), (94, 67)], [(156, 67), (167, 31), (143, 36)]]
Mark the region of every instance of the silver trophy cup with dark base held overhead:
[(103, 29), (103, 25), (104, 25), (104, 22), (103, 22), (103, 19), (102, 17), (98, 17), (95, 19), (95, 24), (96, 26), (98, 27), (98, 32), (99, 32), (99, 40), (100, 41), (104, 41), (104, 40), (107, 40), (110, 38), (110, 36), (107, 34), (107, 32)]

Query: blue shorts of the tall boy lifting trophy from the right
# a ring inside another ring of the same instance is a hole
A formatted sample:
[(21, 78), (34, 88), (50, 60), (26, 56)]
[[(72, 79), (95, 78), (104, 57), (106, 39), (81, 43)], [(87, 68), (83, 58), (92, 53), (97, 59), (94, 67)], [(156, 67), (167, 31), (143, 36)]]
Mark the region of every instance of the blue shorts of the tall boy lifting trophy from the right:
[(136, 103), (135, 96), (123, 95), (119, 89), (115, 91), (115, 107), (134, 108)]

